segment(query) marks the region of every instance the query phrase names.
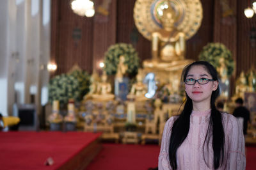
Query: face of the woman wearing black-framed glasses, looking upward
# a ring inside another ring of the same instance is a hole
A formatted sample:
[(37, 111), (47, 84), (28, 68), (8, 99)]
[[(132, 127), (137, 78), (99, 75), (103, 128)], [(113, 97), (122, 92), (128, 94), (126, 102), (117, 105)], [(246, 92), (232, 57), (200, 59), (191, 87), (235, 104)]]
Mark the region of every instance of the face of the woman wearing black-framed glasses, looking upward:
[[(191, 66), (186, 79), (212, 79), (210, 73), (207, 72), (204, 66), (195, 65)], [(197, 81), (193, 85), (185, 84), (185, 91), (188, 97), (191, 98), (193, 102), (211, 102), (212, 91), (218, 88), (218, 81), (209, 81), (207, 84), (199, 84)]]

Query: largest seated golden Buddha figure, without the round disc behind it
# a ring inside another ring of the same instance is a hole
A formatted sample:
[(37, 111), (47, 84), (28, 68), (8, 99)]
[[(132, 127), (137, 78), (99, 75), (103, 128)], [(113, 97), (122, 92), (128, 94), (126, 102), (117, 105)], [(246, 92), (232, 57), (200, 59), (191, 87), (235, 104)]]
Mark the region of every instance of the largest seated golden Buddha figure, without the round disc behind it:
[(186, 38), (175, 27), (177, 16), (172, 6), (164, 8), (159, 17), (163, 28), (152, 33), (152, 60), (143, 62), (145, 68), (163, 69), (184, 63)]

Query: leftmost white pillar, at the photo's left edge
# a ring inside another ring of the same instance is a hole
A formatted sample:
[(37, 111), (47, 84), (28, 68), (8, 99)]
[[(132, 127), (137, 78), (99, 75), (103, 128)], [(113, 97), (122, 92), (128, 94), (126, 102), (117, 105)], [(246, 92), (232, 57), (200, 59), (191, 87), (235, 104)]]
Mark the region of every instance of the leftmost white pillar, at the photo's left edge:
[(15, 100), (15, 0), (3, 1), (0, 6), (0, 112), (12, 114), (10, 108)]

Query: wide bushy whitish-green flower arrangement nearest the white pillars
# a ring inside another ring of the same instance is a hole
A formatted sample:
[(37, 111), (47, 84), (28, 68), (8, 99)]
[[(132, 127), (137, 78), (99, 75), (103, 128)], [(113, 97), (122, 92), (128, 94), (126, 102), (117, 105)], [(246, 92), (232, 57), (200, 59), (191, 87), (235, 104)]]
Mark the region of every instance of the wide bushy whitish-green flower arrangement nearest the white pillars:
[(88, 93), (90, 75), (84, 71), (74, 71), (70, 74), (56, 75), (49, 82), (49, 102), (59, 100), (60, 104), (67, 104), (68, 99), (81, 101)]

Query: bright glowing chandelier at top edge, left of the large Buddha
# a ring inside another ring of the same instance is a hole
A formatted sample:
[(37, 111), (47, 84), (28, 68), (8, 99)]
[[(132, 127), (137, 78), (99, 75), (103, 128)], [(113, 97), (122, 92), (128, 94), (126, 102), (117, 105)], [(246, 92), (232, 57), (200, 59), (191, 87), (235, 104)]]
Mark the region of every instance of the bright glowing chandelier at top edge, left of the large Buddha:
[(74, 13), (81, 17), (93, 17), (95, 14), (94, 4), (90, 0), (73, 0), (71, 8)]

